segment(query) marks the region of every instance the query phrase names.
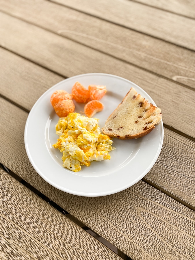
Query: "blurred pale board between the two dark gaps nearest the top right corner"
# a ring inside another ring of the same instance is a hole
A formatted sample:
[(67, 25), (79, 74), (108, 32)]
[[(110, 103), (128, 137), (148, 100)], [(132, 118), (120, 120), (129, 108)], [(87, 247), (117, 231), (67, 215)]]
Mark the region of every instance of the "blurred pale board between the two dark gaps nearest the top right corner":
[(52, 2), (64, 4), (192, 50), (195, 49), (195, 21), (187, 17), (129, 0), (100, 0), (93, 3), (90, 0), (52, 0)]

